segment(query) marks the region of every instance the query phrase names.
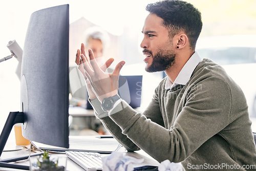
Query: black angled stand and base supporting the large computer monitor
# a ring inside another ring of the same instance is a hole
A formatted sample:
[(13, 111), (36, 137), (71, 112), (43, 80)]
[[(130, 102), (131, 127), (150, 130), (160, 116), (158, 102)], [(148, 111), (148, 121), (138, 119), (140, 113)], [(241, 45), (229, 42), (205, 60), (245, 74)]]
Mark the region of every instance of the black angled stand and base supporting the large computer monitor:
[[(16, 123), (24, 123), (24, 113), (23, 112), (10, 112), (9, 116), (6, 120), (4, 129), (0, 135), (0, 156), (2, 155), (4, 151), (4, 147), (6, 145), (6, 142), (9, 138), (9, 135), (11, 133), (12, 127)], [(18, 160), (16, 160), (18, 161)], [(29, 170), (29, 166), (25, 165), (18, 165), (18, 164), (11, 164), (8, 162), (2, 162), (0, 160), (0, 167), (8, 167), (8, 168), (18, 168), (23, 170)]]

